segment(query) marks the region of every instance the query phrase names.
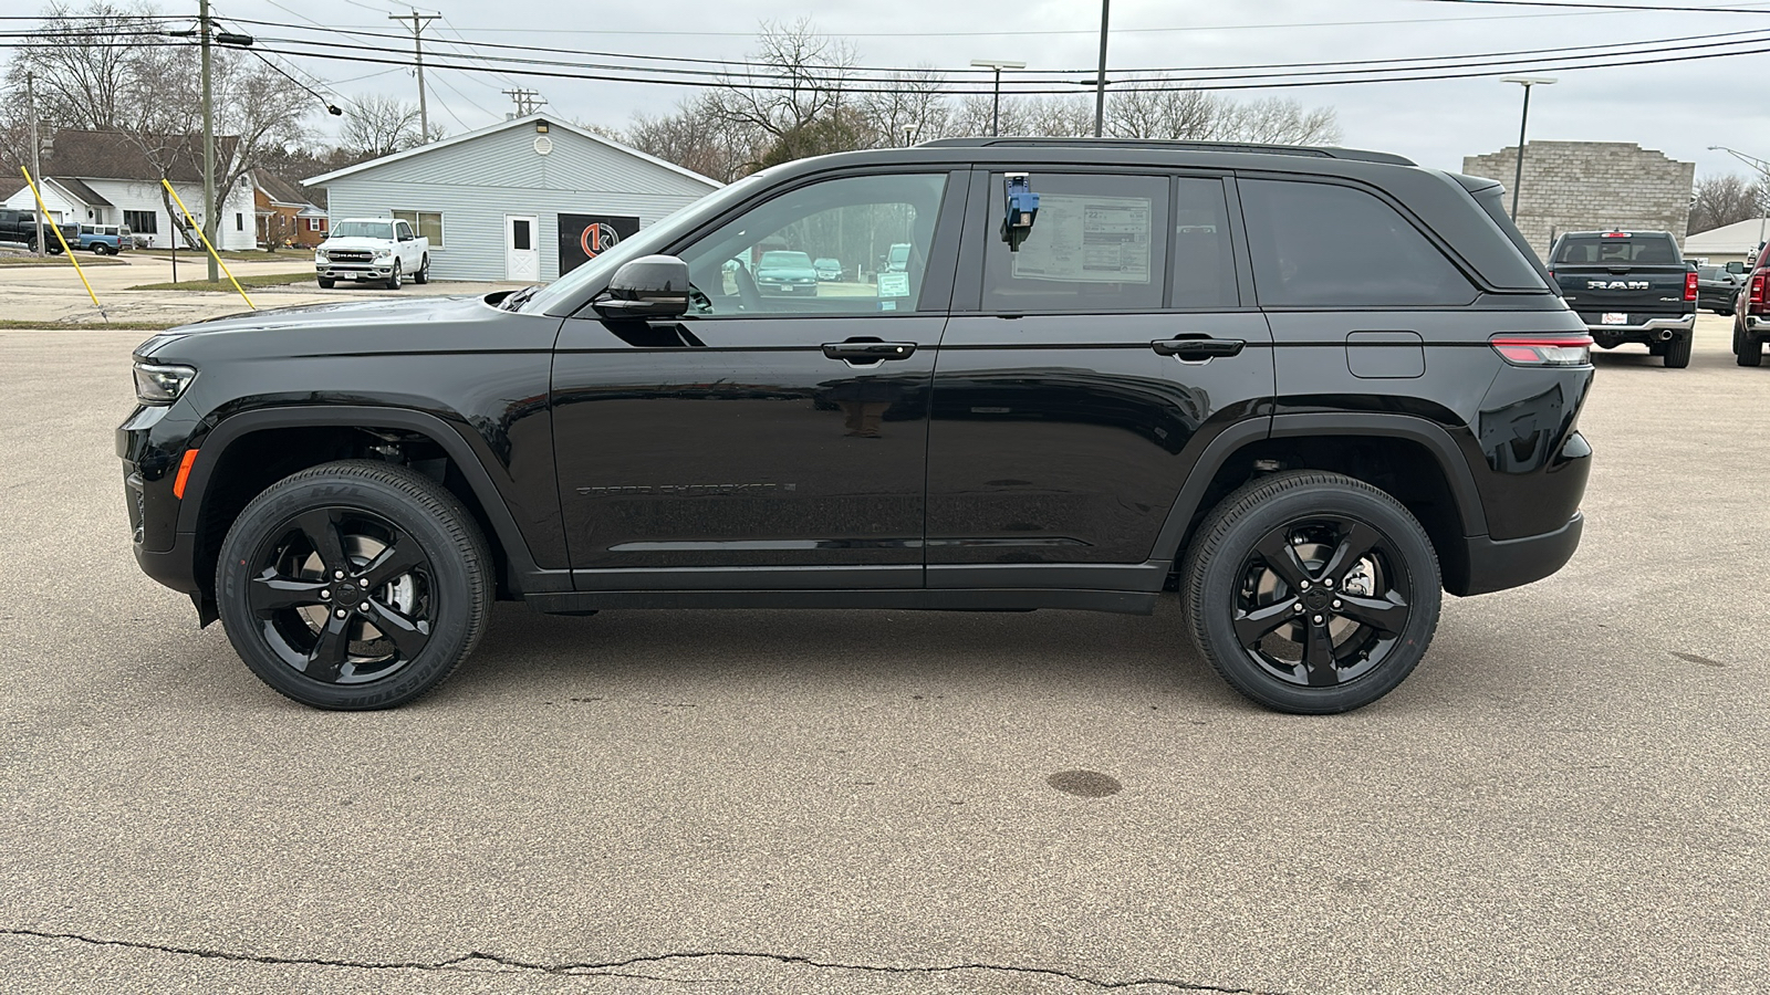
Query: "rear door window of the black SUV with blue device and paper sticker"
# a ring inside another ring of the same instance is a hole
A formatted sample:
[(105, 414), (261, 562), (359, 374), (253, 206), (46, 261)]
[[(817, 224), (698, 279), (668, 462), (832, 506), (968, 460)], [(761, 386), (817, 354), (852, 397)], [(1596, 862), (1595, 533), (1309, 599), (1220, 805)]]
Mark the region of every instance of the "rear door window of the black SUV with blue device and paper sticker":
[(1039, 216), (1020, 251), (1009, 251), (997, 230), (1004, 216), (1002, 174), (991, 177), (986, 312), (1161, 308), (1168, 269), (1166, 179), (1035, 172), (1032, 189), (1039, 195)]

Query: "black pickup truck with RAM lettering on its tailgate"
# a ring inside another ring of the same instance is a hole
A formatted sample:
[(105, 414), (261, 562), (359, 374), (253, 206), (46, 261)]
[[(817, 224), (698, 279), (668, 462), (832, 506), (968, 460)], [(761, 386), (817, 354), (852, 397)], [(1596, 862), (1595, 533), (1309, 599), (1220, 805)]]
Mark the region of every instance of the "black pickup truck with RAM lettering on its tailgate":
[(1549, 269), (1600, 349), (1639, 342), (1674, 370), (1690, 365), (1697, 274), (1671, 232), (1566, 232)]

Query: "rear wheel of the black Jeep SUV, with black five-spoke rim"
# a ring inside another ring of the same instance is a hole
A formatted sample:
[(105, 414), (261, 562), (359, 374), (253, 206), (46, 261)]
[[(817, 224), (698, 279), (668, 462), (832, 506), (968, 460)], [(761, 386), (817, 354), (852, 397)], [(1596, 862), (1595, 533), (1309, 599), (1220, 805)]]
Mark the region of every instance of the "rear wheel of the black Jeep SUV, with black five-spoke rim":
[(1395, 498), (1336, 473), (1266, 476), (1225, 498), (1181, 570), (1198, 652), (1243, 696), (1351, 712), (1412, 673), (1437, 629), (1437, 554)]

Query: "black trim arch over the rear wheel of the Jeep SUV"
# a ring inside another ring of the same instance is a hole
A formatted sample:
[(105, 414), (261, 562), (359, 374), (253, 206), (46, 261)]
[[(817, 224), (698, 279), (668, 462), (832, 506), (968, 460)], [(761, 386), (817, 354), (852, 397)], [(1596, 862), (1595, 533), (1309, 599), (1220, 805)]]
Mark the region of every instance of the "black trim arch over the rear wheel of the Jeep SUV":
[[(1235, 430), (1241, 428), (1241, 430)], [(1444, 586), (1466, 586), (1466, 536), (1487, 535), (1487, 513), (1451, 434), (1407, 414), (1278, 414), (1220, 434), (1188, 474), (1152, 558), (1177, 563), (1225, 496), (1273, 469), (1319, 469), (1363, 480), (1400, 501), (1427, 529)]]

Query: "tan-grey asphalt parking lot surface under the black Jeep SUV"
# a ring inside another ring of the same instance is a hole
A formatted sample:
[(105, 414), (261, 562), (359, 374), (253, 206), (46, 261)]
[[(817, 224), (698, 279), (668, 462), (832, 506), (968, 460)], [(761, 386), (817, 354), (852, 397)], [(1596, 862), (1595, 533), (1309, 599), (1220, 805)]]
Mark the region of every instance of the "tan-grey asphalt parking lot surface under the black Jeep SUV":
[(499, 605), (435, 694), (312, 712), (129, 556), (145, 333), (0, 333), (0, 979), (1763, 991), (1770, 370), (1726, 335), (1689, 370), (1600, 352), (1575, 559), (1448, 598), (1400, 690), (1301, 719), (1174, 602)]

